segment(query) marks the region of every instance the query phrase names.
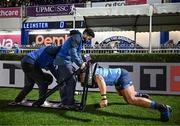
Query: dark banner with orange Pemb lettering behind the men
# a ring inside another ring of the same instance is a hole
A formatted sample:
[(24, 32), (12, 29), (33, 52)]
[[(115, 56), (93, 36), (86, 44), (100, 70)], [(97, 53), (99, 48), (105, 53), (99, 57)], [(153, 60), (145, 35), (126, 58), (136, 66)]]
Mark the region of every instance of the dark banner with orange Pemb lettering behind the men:
[(68, 34), (35, 34), (29, 35), (29, 45), (62, 45), (68, 38)]

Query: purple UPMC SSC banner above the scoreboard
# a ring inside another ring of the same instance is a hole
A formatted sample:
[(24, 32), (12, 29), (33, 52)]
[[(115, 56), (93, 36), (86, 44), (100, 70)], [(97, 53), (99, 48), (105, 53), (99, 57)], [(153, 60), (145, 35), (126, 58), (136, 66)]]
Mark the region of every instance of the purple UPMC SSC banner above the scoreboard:
[[(84, 7), (84, 3), (75, 4), (75, 7)], [(74, 11), (73, 4), (29, 6), (26, 9), (26, 16), (58, 16), (72, 15)]]

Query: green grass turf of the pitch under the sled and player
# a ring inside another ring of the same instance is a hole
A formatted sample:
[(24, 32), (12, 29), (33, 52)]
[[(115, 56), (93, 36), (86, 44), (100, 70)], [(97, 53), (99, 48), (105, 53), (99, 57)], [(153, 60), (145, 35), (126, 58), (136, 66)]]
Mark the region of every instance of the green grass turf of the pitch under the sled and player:
[[(0, 88), (0, 125), (180, 125), (180, 96), (152, 96), (156, 101), (169, 104), (173, 108), (170, 121), (161, 122), (158, 111), (128, 105), (115, 93), (108, 93), (109, 106), (106, 110), (99, 108), (100, 96), (97, 92), (88, 93), (84, 111), (7, 106), (19, 91), (13, 88)], [(28, 98), (35, 99), (37, 95), (38, 91), (33, 90)], [(79, 96), (76, 97), (79, 99)], [(49, 98), (58, 99), (58, 92)]]

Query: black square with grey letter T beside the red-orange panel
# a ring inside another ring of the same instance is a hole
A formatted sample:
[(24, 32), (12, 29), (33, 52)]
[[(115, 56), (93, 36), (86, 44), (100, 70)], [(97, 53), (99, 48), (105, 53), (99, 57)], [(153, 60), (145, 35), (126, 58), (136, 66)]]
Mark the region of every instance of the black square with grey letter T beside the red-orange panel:
[(166, 91), (166, 66), (140, 66), (140, 90)]

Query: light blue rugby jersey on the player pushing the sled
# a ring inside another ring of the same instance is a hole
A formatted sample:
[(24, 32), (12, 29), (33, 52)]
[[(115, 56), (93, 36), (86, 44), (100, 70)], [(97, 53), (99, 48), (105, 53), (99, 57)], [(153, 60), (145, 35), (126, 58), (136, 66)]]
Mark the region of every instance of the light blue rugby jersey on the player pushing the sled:
[(104, 68), (99, 67), (96, 69), (95, 75), (101, 75), (107, 86), (113, 86), (117, 83), (119, 77), (121, 76), (121, 68)]

